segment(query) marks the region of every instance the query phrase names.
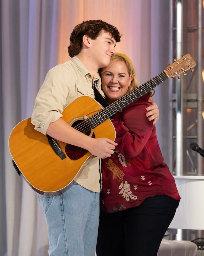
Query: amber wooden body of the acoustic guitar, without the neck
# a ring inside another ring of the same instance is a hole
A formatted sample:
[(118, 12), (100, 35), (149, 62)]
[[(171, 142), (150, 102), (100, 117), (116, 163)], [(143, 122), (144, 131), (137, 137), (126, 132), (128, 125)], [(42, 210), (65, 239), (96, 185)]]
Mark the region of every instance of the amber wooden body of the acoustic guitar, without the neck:
[[(90, 117), (99, 110), (101, 106), (96, 100), (82, 96), (64, 109), (63, 119), (72, 125), (73, 120), (84, 120), (84, 116)], [(91, 137), (115, 140), (116, 133), (110, 119), (91, 130)], [(10, 134), (9, 149), (12, 158), (29, 185), (40, 194), (57, 195), (66, 191), (91, 156), (90, 152), (80, 147), (63, 142), (58, 144), (66, 156), (63, 160), (53, 151), (48, 137), (34, 130), (31, 118), (17, 124)], [(67, 155), (69, 146), (71, 157)]]

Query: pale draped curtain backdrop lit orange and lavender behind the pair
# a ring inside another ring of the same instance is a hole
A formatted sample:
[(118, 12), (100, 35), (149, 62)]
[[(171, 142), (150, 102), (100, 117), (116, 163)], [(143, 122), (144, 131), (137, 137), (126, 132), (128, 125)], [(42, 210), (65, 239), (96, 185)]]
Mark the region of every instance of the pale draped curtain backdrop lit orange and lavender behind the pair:
[[(116, 51), (132, 59), (142, 84), (173, 60), (173, 56), (169, 60), (169, 2), (1, 0), (0, 256), (48, 256), (44, 213), (36, 193), (13, 168), (8, 138), (17, 123), (31, 116), (47, 71), (70, 59), (67, 46), (72, 29), (88, 19), (116, 26), (123, 35)], [(158, 138), (168, 163), (168, 138), (160, 133), (168, 129), (167, 97), (164, 82), (154, 98), (160, 110)]]

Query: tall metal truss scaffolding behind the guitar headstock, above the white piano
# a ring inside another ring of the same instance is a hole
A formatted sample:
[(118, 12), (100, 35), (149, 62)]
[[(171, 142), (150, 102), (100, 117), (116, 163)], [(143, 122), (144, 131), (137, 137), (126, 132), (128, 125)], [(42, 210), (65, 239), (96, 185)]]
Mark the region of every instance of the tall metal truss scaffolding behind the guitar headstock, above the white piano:
[(204, 158), (190, 148), (203, 148), (203, 2), (170, 1), (170, 55), (176, 59), (190, 53), (194, 72), (170, 82), (170, 147), (174, 175), (202, 175)]

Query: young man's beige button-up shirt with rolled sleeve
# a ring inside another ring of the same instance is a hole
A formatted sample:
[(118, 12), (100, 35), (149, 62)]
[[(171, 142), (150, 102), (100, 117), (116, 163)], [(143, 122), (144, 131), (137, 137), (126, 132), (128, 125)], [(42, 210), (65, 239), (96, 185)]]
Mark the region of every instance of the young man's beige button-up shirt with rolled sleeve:
[[(62, 117), (63, 109), (74, 99), (83, 95), (94, 98), (93, 84), (96, 80), (99, 80), (98, 90), (104, 95), (99, 74), (92, 79), (90, 72), (76, 56), (49, 70), (35, 101), (32, 114), (35, 130), (46, 135), (49, 124)], [(100, 192), (100, 174), (100, 159), (91, 156), (74, 180), (91, 191)]]

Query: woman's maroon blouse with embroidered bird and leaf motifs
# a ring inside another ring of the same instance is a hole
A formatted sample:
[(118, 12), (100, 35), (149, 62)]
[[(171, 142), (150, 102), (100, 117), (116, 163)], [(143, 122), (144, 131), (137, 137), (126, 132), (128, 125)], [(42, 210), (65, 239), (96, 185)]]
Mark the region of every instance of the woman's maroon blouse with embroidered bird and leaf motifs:
[(181, 199), (160, 151), (155, 125), (146, 117), (148, 95), (115, 114), (116, 150), (102, 159), (100, 208), (112, 213), (136, 207), (146, 198)]

